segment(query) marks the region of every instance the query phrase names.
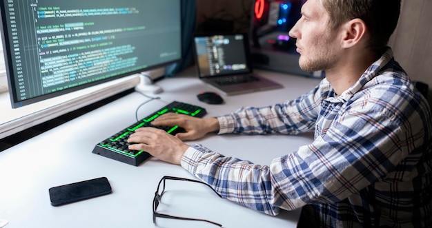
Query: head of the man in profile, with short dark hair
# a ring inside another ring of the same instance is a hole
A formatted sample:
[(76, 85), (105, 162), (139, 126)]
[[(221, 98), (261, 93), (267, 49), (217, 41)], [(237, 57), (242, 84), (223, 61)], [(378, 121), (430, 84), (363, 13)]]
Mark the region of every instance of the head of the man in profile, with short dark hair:
[[(337, 70), (346, 61), (382, 54), (400, 14), (401, 0), (308, 0), (289, 32), (297, 39), (300, 68)], [(348, 54), (348, 55), (347, 55)]]

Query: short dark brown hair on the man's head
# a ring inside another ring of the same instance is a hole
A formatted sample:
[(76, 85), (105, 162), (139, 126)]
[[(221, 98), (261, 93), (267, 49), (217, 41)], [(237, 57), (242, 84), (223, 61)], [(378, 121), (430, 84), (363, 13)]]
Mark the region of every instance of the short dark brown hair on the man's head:
[(337, 30), (351, 19), (362, 19), (369, 30), (368, 48), (384, 49), (396, 28), (401, 0), (321, 0), (330, 16), (330, 28)]

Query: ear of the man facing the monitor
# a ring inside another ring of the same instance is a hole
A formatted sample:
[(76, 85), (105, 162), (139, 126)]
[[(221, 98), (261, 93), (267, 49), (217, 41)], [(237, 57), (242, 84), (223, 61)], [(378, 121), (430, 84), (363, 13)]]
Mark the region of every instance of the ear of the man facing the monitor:
[(352, 19), (342, 25), (342, 48), (351, 48), (366, 41), (366, 23), (362, 19)]

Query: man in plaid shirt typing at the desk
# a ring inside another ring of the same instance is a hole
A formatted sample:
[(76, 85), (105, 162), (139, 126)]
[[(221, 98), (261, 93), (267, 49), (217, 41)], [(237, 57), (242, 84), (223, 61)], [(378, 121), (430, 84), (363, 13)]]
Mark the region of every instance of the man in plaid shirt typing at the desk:
[[(153, 124), (187, 132), (137, 129), (130, 149), (179, 164), (225, 198), (266, 214), (303, 207), (299, 227), (432, 227), (430, 108), (386, 47), (399, 13), (397, 0), (306, 1), (289, 34), (301, 68), (326, 72), (313, 91), (217, 118), (166, 114)], [(311, 130), (313, 143), (269, 166), (183, 142), (208, 132)]]

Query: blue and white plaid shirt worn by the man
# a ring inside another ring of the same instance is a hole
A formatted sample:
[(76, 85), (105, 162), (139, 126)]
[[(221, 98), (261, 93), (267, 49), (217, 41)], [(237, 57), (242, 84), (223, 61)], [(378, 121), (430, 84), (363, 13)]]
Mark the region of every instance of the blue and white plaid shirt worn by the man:
[(194, 144), (181, 165), (266, 214), (313, 205), (321, 227), (432, 227), (432, 124), (389, 48), (336, 96), (323, 79), (294, 101), (219, 116), (219, 134), (300, 134), (313, 143), (270, 166)]

